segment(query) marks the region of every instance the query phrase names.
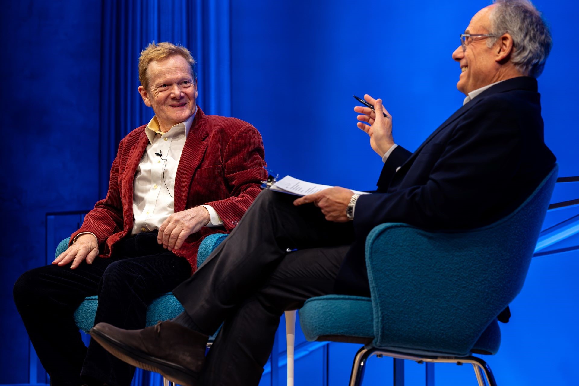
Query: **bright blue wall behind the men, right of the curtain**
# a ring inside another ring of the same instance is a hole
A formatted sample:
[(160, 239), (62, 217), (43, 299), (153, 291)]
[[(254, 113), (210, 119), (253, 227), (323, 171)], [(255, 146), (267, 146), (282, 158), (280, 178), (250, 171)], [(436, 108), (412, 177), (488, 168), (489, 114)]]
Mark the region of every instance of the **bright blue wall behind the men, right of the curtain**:
[[(395, 141), (417, 146), (462, 105), (451, 54), (488, 1), (232, 0), (232, 113), (262, 133), (281, 175), (372, 189), (381, 168), (352, 95), (384, 100)], [(545, 140), (560, 175), (579, 172), (576, 2), (537, 1), (554, 47), (540, 76)], [(570, 68), (569, 68), (570, 67)]]

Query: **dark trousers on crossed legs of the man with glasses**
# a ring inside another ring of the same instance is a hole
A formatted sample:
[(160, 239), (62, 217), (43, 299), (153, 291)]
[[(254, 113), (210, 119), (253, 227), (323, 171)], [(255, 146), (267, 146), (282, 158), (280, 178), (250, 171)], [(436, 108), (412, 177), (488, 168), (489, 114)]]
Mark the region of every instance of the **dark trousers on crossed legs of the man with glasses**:
[[(264, 190), (196, 273), (173, 290), (197, 330), (223, 323), (201, 374), (206, 386), (258, 385), (280, 316), (332, 293), (354, 240), (351, 222)], [(286, 252), (286, 249), (297, 251)]]

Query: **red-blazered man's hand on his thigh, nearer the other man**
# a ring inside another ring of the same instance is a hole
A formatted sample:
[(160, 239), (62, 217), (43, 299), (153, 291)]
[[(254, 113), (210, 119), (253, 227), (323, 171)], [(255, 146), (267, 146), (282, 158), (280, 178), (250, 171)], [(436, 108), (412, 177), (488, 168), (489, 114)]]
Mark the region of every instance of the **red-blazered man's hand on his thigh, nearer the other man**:
[(157, 242), (169, 251), (179, 249), (190, 234), (206, 226), (210, 220), (209, 211), (201, 206), (174, 213), (159, 227)]

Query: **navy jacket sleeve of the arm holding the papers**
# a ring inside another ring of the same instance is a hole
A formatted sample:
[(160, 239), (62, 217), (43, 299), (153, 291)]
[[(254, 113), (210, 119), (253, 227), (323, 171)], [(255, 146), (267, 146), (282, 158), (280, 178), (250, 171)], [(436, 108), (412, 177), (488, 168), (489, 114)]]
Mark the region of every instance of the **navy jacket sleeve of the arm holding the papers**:
[[(472, 102), (471, 102), (472, 103)], [(365, 237), (384, 222), (404, 222), (426, 229), (461, 229), (501, 200), (521, 159), (516, 116), (500, 98), (477, 104), (461, 117), (446, 144), (430, 155), (433, 165), (423, 185), (358, 198), (354, 229)], [(423, 149), (424, 152), (424, 149)], [(385, 166), (386, 167), (386, 166)]]

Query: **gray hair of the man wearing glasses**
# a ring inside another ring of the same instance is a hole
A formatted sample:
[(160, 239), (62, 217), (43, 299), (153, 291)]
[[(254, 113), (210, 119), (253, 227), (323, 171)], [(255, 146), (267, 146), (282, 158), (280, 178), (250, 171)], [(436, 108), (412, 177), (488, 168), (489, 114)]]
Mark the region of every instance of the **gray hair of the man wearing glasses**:
[[(541, 75), (553, 41), (547, 22), (529, 0), (494, 0), (489, 19), (491, 33), (512, 37), (511, 62), (523, 75)], [(492, 47), (499, 38), (489, 39)]]

